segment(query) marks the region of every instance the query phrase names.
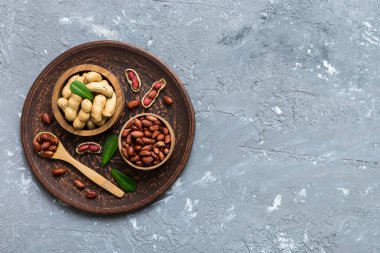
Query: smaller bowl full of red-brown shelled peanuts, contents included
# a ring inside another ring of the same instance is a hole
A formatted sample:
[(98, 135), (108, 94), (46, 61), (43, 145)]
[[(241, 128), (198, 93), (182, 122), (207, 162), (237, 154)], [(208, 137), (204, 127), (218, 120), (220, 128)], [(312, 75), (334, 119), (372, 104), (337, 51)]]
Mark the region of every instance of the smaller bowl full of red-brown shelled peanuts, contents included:
[(173, 128), (152, 113), (130, 118), (119, 135), (119, 151), (123, 159), (138, 170), (153, 170), (163, 165), (175, 146)]

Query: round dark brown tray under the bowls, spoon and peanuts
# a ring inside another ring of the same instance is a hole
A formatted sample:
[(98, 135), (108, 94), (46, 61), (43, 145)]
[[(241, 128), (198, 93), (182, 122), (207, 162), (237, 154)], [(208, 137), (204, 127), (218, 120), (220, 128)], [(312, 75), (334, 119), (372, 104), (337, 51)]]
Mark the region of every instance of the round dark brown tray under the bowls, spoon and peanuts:
[[(160, 78), (165, 78), (167, 86), (151, 108), (140, 107), (133, 110), (125, 108), (120, 121), (107, 132), (93, 137), (76, 136), (65, 131), (56, 121), (49, 126), (44, 125), (41, 123), (40, 114), (49, 112), (53, 115), (50, 102), (54, 84), (62, 73), (78, 64), (96, 64), (112, 71), (120, 81), (126, 102), (141, 98), (149, 90), (150, 84)], [(133, 93), (126, 81), (124, 71), (127, 68), (135, 69), (140, 75), (143, 85), (138, 93)], [(171, 107), (164, 105), (162, 102), (164, 95), (171, 96), (174, 99), (174, 105)], [(177, 141), (173, 155), (160, 168), (152, 171), (136, 170), (125, 163), (119, 152), (105, 168), (101, 168), (101, 155), (84, 154), (80, 156), (75, 153), (75, 148), (79, 143), (95, 141), (102, 144), (109, 134), (118, 134), (130, 117), (144, 112), (160, 115), (171, 124), (175, 132)], [(32, 140), (35, 134), (41, 131), (50, 131), (57, 135), (74, 158), (96, 170), (113, 183), (115, 181), (110, 176), (110, 167), (118, 168), (133, 177), (137, 181), (137, 191), (126, 193), (123, 198), (118, 199), (96, 186), (69, 164), (40, 157), (33, 151)], [(134, 211), (152, 203), (166, 192), (185, 168), (191, 153), (194, 132), (194, 110), (178, 76), (152, 54), (127, 43), (116, 41), (90, 42), (76, 46), (58, 56), (33, 83), (21, 116), (21, 138), (25, 157), (37, 179), (51, 194), (66, 204), (87, 212), (101, 214)], [(53, 177), (51, 169), (60, 166), (68, 168), (69, 173), (59, 178)], [(96, 190), (99, 197), (94, 200), (86, 199), (85, 192), (73, 186), (75, 178), (84, 181), (87, 188)]]

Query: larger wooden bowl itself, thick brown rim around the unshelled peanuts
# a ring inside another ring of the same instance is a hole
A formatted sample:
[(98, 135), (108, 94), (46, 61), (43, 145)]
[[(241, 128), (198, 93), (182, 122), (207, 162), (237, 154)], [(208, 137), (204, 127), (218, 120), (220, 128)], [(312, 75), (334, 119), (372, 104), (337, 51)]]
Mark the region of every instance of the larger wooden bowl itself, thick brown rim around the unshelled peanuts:
[[(62, 89), (66, 85), (68, 79), (78, 73), (88, 72), (88, 71), (95, 71), (100, 73), (103, 78), (107, 79), (109, 84), (113, 87), (115, 93), (116, 93), (116, 109), (114, 114), (109, 118), (106, 123), (98, 128), (92, 129), (92, 130), (77, 130), (75, 129), (70, 122), (68, 122), (65, 119), (64, 113), (61, 111), (61, 109), (58, 107), (57, 101), (58, 98), (61, 97)], [(66, 70), (58, 79), (58, 81), (55, 83), (55, 87), (53, 90), (53, 96), (51, 100), (51, 105), (53, 109), (53, 114), (55, 119), (57, 120), (58, 124), (63, 127), (65, 130), (69, 131), (70, 133), (73, 133), (75, 135), (79, 136), (94, 136), (101, 134), (105, 131), (107, 131), (109, 128), (111, 128), (116, 122), (120, 120), (120, 117), (123, 113), (124, 106), (125, 106), (125, 99), (124, 99), (124, 93), (120, 86), (119, 80), (116, 78), (114, 74), (112, 74), (110, 71), (108, 71), (105, 68), (102, 68), (97, 65), (93, 64), (83, 64), (76, 67), (73, 67), (71, 69)]]

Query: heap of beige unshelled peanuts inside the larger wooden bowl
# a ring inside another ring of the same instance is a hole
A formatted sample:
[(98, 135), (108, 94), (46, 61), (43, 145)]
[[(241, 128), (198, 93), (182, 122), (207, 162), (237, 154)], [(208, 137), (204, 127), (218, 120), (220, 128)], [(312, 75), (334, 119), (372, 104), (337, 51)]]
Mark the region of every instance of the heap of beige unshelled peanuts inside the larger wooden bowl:
[[(82, 82), (87, 89), (94, 94), (93, 101), (82, 99), (73, 94), (70, 85), (74, 81)], [(75, 129), (95, 129), (104, 125), (112, 117), (116, 109), (116, 93), (102, 75), (90, 71), (82, 75), (74, 75), (69, 78), (62, 89), (62, 97), (57, 101), (67, 121), (72, 122)]]

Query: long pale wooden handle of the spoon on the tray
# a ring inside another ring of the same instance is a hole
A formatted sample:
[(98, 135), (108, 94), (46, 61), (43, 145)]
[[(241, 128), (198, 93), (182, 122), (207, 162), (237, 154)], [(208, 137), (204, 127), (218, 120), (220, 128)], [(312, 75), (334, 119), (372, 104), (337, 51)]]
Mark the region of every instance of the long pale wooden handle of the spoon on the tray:
[(82, 172), (86, 177), (88, 177), (91, 181), (102, 187), (103, 189), (109, 191), (113, 195), (121, 198), (124, 196), (124, 192), (116, 187), (114, 184), (112, 184), (110, 181), (108, 181), (105, 177), (97, 173), (96, 171), (90, 169), (89, 167), (83, 165), (82, 163), (78, 162), (74, 158), (66, 157), (66, 162), (73, 165), (75, 168), (77, 168), (80, 172)]

